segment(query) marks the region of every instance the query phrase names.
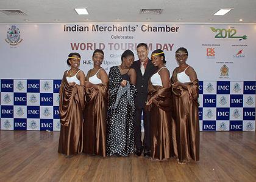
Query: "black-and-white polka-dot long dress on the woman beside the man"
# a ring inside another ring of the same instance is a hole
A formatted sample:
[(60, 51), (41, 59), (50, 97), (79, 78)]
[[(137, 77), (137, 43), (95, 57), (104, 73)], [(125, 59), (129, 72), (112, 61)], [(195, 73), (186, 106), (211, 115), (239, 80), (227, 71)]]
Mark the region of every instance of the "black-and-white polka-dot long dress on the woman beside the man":
[(129, 81), (122, 87), (122, 80), (118, 66), (111, 67), (107, 116), (108, 156), (116, 154), (127, 157), (135, 150), (133, 124), (137, 91)]

